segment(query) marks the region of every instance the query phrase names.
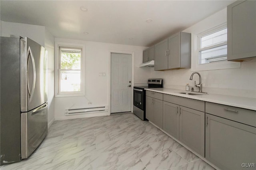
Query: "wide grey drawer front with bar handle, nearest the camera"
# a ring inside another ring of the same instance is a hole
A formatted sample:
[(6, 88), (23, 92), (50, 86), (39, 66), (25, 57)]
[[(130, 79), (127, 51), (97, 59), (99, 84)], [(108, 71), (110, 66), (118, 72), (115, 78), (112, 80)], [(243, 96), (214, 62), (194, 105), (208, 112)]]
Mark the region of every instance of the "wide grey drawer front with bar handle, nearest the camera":
[(256, 127), (256, 111), (206, 102), (205, 112)]

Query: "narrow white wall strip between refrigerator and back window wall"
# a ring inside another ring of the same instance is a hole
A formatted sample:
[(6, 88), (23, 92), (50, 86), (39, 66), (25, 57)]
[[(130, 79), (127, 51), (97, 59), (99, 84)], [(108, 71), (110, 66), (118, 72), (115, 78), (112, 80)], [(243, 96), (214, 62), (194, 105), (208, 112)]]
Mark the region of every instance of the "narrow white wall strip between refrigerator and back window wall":
[(45, 49), (48, 51), (48, 127), (54, 121), (54, 36), (45, 29)]

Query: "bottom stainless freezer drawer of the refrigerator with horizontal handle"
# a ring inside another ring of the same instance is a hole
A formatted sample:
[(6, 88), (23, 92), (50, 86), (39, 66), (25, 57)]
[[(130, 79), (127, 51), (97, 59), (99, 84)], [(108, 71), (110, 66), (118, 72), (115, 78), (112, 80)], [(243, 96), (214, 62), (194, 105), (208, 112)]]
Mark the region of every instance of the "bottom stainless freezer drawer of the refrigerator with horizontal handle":
[(47, 108), (44, 103), (32, 111), (21, 113), (21, 158), (25, 159), (44, 140), (47, 130)]

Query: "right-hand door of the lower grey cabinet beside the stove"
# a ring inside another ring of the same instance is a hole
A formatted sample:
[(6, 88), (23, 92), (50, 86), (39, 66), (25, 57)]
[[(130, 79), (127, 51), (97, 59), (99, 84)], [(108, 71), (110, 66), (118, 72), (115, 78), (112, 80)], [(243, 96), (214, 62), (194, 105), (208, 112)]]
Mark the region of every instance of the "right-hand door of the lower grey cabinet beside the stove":
[(163, 129), (163, 101), (153, 98), (153, 105), (154, 105), (153, 123), (156, 124), (156, 126)]

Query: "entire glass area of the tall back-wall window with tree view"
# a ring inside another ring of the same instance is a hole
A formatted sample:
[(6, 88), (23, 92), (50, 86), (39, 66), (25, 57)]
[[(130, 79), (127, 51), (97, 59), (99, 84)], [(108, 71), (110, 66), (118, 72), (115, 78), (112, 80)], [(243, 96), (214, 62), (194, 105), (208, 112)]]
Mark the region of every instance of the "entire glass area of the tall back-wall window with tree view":
[(81, 91), (81, 48), (60, 47), (59, 93)]

